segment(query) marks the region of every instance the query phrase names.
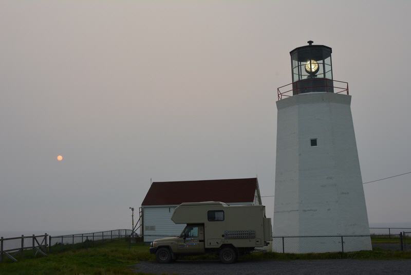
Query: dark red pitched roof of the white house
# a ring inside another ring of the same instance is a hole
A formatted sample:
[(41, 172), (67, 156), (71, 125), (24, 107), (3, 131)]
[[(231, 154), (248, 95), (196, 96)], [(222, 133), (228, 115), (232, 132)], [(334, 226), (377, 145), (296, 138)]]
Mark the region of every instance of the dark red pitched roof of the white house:
[(257, 178), (153, 182), (141, 205), (179, 205), (199, 201), (249, 203), (254, 201), (256, 188)]

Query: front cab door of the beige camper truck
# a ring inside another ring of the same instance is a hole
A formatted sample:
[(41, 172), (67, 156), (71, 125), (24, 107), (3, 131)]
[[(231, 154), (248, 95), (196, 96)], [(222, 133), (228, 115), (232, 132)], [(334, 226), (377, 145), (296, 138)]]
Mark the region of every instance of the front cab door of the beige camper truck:
[(184, 237), (178, 239), (177, 253), (197, 254), (204, 252), (204, 226), (187, 225), (183, 231)]

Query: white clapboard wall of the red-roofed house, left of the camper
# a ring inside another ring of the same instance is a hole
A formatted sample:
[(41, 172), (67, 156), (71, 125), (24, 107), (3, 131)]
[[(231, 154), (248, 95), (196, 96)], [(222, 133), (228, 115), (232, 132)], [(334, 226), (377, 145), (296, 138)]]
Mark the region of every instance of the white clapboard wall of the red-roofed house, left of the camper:
[(171, 220), (175, 208), (176, 206), (143, 207), (144, 242), (181, 234), (185, 224), (175, 224)]

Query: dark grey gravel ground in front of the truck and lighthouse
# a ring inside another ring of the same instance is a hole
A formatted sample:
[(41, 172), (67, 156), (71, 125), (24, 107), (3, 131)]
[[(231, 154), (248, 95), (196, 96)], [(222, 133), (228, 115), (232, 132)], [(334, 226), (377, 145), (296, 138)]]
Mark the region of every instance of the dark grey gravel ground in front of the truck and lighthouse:
[(244, 261), (231, 265), (218, 261), (141, 262), (136, 272), (153, 274), (411, 274), (411, 260), (298, 260)]

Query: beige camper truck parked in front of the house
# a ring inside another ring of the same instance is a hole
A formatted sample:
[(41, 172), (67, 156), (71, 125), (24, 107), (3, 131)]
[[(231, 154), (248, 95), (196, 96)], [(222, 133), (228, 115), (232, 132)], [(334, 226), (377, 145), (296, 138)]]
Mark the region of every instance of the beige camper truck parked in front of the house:
[(177, 237), (166, 237), (151, 243), (150, 253), (159, 263), (170, 263), (179, 255), (218, 253), (222, 263), (234, 263), (240, 254), (272, 241), (271, 218), (265, 206), (228, 206), (207, 201), (183, 203), (171, 217), (176, 224), (186, 224)]

